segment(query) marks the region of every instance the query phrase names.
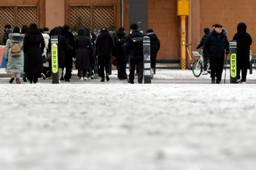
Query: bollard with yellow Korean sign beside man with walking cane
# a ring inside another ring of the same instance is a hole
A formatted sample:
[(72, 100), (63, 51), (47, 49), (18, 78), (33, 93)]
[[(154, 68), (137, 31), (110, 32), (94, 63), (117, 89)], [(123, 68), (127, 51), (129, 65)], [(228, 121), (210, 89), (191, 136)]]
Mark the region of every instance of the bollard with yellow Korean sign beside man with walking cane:
[(230, 41), (230, 84), (237, 83), (237, 41)]

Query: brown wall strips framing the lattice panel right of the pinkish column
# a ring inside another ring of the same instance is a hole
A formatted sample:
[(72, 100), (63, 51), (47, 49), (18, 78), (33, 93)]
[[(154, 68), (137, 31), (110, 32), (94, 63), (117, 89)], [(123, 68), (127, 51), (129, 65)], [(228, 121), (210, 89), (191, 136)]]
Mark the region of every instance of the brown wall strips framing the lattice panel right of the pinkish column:
[[(121, 1), (120, 0), (66, 0), (65, 1), (65, 24), (68, 24), (69, 5), (92, 4), (92, 5), (115, 5), (116, 8), (116, 29), (121, 26)], [(128, 33), (128, 0), (124, 0), (124, 29)]]

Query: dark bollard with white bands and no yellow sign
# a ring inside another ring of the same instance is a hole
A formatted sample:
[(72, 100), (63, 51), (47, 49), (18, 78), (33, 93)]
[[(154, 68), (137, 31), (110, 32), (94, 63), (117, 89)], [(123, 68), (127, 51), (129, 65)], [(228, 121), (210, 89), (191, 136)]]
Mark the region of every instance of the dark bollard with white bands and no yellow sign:
[(151, 84), (150, 38), (143, 37), (144, 84)]

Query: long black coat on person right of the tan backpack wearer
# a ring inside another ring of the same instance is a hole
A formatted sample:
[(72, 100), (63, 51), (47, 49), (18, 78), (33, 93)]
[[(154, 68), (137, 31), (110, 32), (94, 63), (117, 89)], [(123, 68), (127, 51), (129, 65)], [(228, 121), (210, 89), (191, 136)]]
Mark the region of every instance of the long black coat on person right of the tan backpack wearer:
[(24, 72), (43, 72), (43, 57), (45, 40), (42, 34), (26, 33), (23, 41)]

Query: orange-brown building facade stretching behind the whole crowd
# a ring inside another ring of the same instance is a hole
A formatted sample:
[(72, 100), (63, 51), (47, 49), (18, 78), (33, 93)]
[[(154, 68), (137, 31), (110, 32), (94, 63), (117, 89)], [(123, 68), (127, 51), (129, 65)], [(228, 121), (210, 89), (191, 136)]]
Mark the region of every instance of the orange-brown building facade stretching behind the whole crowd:
[[(219, 23), (228, 31), (228, 40), (237, 32), (237, 24), (245, 22), (247, 32), (256, 37), (256, 1), (255, 0), (189, 0), (190, 15), (186, 18), (186, 43), (189, 51), (196, 51), (196, 46), (203, 36), (203, 29)], [(136, 4), (142, 5), (136, 8)], [(130, 6), (129, 6), (130, 5)], [(146, 7), (145, 7), (146, 6)], [(143, 7), (143, 8), (142, 8)], [(139, 15), (143, 12), (145, 15)], [(178, 63), (181, 58), (181, 19), (177, 16), (177, 0), (0, 0), (0, 36), (4, 26), (30, 25), (34, 22), (39, 28), (70, 25), (71, 29), (79, 26), (91, 31), (101, 26), (120, 26), (129, 31), (129, 24), (135, 22), (148, 29), (161, 41), (158, 62)], [(133, 21), (134, 20), (134, 21)], [(143, 25), (144, 24), (144, 25)], [(256, 44), (251, 46), (256, 53)], [(193, 57), (192, 57), (193, 58)], [(187, 56), (187, 66), (189, 58)]]

